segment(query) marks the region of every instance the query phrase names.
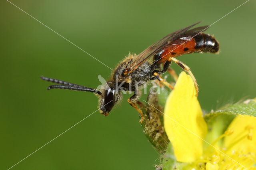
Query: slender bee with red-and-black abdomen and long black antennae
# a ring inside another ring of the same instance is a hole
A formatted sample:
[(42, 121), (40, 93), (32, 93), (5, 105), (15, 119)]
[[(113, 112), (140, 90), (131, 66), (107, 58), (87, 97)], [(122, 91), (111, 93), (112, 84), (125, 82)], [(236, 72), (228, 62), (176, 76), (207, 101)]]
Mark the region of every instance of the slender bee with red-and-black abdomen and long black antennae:
[(192, 77), (196, 88), (196, 95), (198, 95), (196, 78), (190, 68), (176, 59), (176, 57), (189, 53), (218, 53), (219, 43), (210, 34), (202, 33), (209, 26), (191, 29), (196, 24), (165, 36), (158, 42), (150, 45), (139, 55), (129, 54), (117, 65), (116, 69), (113, 70), (111, 78), (101, 89), (89, 88), (43, 76), (41, 79), (57, 84), (49, 86), (48, 90), (68, 89), (95, 93), (99, 97), (99, 110), (105, 116), (122, 99), (122, 91), (134, 92), (127, 101), (140, 113), (140, 123), (142, 123), (143, 113), (139, 107), (142, 107), (143, 104), (138, 101), (141, 94), (140, 89), (152, 80), (159, 81), (159, 83), (173, 89), (172, 85), (161, 77), (162, 74), (168, 71), (176, 79), (176, 74), (169, 68), (172, 62), (178, 64)]

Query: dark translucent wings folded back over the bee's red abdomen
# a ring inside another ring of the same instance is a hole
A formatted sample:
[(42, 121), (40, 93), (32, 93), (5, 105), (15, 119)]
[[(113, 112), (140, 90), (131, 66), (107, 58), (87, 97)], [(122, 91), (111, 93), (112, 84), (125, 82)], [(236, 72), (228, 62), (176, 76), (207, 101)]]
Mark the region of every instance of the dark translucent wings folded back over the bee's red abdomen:
[[(202, 22), (202, 21), (200, 21), (200, 22)], [(200, 22), (198, 22), (196, 24), (199, 24)], [(191, 26), (188, 26), (186, 28), (183, 28), (181, 30), (173, 32), (173, 33), (165, 36), (164, 38), (162, 38), (158, 42), (153, 43), (152, 45), (150, 45), (147, 49), (142, 51), (142, 53), (140, 53), (137, 56), (137, 58), (132, 62), (131, 66), (130, 66), (130, 69), (132, 69), (132, 70), (137, 69), (141, 65), (141, 63), (143, 63), (144, 61), (146, 61), (150, 57), (154, 56), (154, 54), (161, 51), (161, 49), (166, 47), (166, 45), (170, 45), (170, 44), (174, 44), (174, 43), (175, 44), (180, 44), (180, 43), (184, 43), (184, 42), (188, 41), (188, 39), (184, 38), (184, 39), (180, 39), (180, 41), (175, 41), (174, 42), (174, 40), (180, 38), (181, 36), (182, 37), (187, 36), (187, 37), (190, 37), (192, 39), (194, 36), (196, 36), (200, 32), (203, 32), (203, 31), (207, 30), (207, 28), (209, 27), (209, 26), (201, 26), (201, 27), (197, 27), (197, 28), (194, 28), (192, 30), (189, 30), (190, 28), (192, 28), (196, 24), (193, 24)]]

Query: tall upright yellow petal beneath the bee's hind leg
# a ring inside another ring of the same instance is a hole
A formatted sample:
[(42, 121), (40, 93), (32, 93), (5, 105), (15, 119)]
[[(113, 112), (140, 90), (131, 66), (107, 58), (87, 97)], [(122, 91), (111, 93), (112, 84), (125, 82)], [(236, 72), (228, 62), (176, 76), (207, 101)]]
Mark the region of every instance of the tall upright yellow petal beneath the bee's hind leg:
[(180, 162), (195, 161), (203, 153), (207, 125), (195, 95), (191, 77), (182, 72), (164, 108), (164, 128)]

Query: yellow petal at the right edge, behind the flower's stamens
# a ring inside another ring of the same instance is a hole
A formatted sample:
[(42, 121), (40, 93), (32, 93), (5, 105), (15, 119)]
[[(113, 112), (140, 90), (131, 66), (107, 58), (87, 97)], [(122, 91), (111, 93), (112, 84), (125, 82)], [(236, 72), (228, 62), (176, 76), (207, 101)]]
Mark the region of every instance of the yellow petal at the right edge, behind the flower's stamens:
[(256, 154), (256, 117), (238, 115), (229, 125), (234, 132), (224, 138), (227, 152), (233, 151), (243, 154)]

